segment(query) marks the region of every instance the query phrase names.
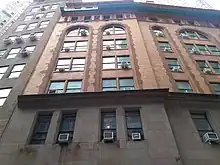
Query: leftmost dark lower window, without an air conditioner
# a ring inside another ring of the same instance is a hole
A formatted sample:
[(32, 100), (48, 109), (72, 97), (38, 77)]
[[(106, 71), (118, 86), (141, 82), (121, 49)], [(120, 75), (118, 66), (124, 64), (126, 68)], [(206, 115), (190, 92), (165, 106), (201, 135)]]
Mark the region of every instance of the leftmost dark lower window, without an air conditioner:
[(31, 144), (44, 144), (47, 138), (48, 129), (52, 113), (40, 113), (37, 117), (37, 121), (31, 137)]

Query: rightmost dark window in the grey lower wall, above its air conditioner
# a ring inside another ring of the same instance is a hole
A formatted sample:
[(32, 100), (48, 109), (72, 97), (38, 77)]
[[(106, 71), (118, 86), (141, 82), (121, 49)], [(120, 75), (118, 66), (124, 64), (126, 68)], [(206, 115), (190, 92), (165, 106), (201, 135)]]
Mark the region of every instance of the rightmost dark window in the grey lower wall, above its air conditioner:
[(191, 117), (201, 138), (207, 132), (214, 132), (206, 113), (191, 113)]

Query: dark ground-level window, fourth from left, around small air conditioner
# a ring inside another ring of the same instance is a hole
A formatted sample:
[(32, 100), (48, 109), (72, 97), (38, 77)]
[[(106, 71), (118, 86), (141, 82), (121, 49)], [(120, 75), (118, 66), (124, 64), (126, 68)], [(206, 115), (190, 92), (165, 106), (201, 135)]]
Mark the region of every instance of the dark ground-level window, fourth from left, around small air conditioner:
[(134, 108), (131, 110), (129, 109), (130, 108), (126, 109), (125, 112), (128, 140), (132, 140), (132, 133), (140, 133), (141, 139), (144, 139), (140, 112)]

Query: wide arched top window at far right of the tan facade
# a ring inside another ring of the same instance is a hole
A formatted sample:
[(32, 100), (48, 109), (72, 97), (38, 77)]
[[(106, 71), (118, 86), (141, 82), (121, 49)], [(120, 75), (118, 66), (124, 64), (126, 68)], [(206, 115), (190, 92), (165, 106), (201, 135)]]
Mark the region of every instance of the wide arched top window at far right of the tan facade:
[(179, 36), (183, 39), (208, 40), (208, 37), (195, 30), (182, 30)]

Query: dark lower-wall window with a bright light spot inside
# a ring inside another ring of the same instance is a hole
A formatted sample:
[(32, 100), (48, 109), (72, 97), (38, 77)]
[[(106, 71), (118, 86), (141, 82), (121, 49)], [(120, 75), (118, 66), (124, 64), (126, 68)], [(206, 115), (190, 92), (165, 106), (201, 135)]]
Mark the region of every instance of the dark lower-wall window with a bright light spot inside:
[(116, 114), (113, 112), (101, 113), (101, 139), (103, 139), (104, 132), (113, 132), (116, 138)]

